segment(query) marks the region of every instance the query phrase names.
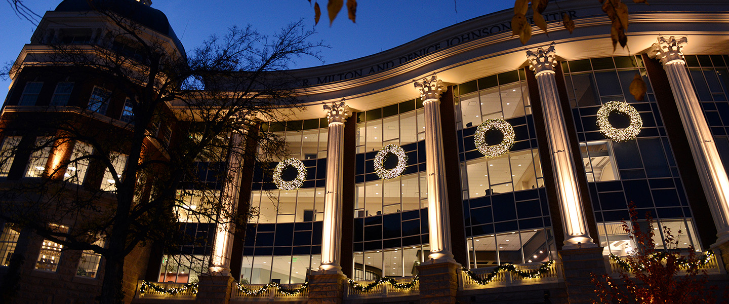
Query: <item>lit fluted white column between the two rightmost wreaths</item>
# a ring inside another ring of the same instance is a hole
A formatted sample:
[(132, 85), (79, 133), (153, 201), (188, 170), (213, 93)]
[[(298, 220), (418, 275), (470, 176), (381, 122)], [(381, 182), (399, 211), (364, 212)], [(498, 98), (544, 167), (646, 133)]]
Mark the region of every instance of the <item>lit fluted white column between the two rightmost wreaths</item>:
[(577, 174), (575, 171), (572, 149), (570, 149), (567, 128), (564, 122), (561, 102), (557, 94), (554, 67), (554, 44), (547, 50), (539, 48), (537, 52), (526, 51), (531, 69), (537, 77), (539, 85), (539, 100), (542, 101), (542, 113), (545, 117), (545, 128), (549, 141), (552, 171), (557, 187), (557, 199), (564, 227), (563, 249), (576, 249), (596, 247), (588, 232), (585, 210), (582, 208), (580, 188), (577, 187)]

